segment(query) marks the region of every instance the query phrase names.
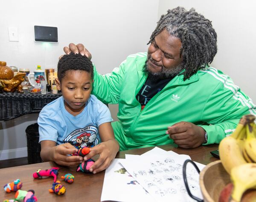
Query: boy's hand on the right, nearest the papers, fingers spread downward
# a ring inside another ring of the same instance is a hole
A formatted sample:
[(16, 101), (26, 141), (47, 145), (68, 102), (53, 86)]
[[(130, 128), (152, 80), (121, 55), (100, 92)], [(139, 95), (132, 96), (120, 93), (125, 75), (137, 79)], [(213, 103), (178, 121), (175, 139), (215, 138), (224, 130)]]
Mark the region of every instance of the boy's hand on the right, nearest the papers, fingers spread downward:
[(108, 168), (118, 151), (119, 144), (115, 139), (110, 139), (90, 148), (90, 153), (84, 156), (84, 160), (87, 161), (96, 154), (99, 154), (99, 159), (90, 167), (89, 171), (96, 174)]

